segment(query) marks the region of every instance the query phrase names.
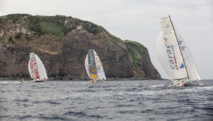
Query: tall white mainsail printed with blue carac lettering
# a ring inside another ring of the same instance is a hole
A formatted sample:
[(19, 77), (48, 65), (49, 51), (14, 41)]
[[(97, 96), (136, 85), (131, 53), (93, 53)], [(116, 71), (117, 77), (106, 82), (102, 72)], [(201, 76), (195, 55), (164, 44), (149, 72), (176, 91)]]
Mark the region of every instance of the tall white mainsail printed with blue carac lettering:
[(170, 77), (174, 80), (186, 78), (188, 75), (184, 66), (185, 64), (169, 17), (161, 18), (161, 30), (167, 59), (170, 64)]

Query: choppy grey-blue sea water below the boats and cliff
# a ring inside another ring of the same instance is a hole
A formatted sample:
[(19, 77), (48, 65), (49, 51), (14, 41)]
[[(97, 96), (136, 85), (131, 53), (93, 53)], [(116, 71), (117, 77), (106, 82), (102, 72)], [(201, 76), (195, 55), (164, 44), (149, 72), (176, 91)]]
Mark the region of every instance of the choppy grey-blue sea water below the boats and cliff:
[(213, 120), (213, 80), (0, 82), (1, 121)]

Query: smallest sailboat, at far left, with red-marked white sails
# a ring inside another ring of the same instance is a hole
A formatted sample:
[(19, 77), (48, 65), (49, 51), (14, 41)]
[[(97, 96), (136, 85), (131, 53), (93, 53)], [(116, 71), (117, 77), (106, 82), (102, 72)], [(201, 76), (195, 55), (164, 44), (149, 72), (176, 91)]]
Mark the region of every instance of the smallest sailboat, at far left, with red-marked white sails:
[(44, 64), (34, 52), (30, 53), (28, 70), (31, 78), (35, 82), (45, 82), (48, 79)]

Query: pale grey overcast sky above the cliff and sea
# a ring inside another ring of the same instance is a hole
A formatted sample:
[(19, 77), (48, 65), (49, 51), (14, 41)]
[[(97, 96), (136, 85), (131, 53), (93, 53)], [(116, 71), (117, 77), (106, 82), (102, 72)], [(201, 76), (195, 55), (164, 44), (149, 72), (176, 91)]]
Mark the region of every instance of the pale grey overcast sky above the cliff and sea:
[(145, 45), (151, 61), (168, 78), (155, 53), (160, 18), (171, 15), (202, 79), (213, 79), (212, 0), (0, 0), (0, 15), (65, 15), (103, 26), (122, 40)]

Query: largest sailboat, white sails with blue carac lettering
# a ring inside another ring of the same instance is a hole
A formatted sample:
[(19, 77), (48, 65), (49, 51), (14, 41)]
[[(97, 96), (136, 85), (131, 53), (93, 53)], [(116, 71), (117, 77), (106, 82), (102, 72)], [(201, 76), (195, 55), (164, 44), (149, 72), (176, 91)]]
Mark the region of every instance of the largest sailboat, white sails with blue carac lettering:
[(160, 23), (156, 54), (165, 72), (175, 86), (199, 85), (201, 78), (192, 55), (171, 17), (161, 18)]

